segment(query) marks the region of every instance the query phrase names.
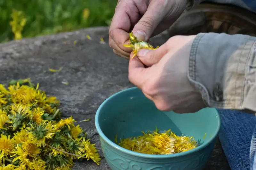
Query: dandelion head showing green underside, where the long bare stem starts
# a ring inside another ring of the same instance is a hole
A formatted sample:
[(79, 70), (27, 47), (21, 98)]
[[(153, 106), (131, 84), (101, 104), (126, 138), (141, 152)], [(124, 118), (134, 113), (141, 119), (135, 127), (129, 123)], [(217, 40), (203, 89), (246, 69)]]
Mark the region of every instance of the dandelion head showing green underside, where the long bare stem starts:
[(28, 139), (38, 147), (44, 147), (46, 140), (51, 139), (56, 132), (55, 126), (46, 121), (37, 126), (31, 125), (27, 129), (31, 131), (28, 134)]

